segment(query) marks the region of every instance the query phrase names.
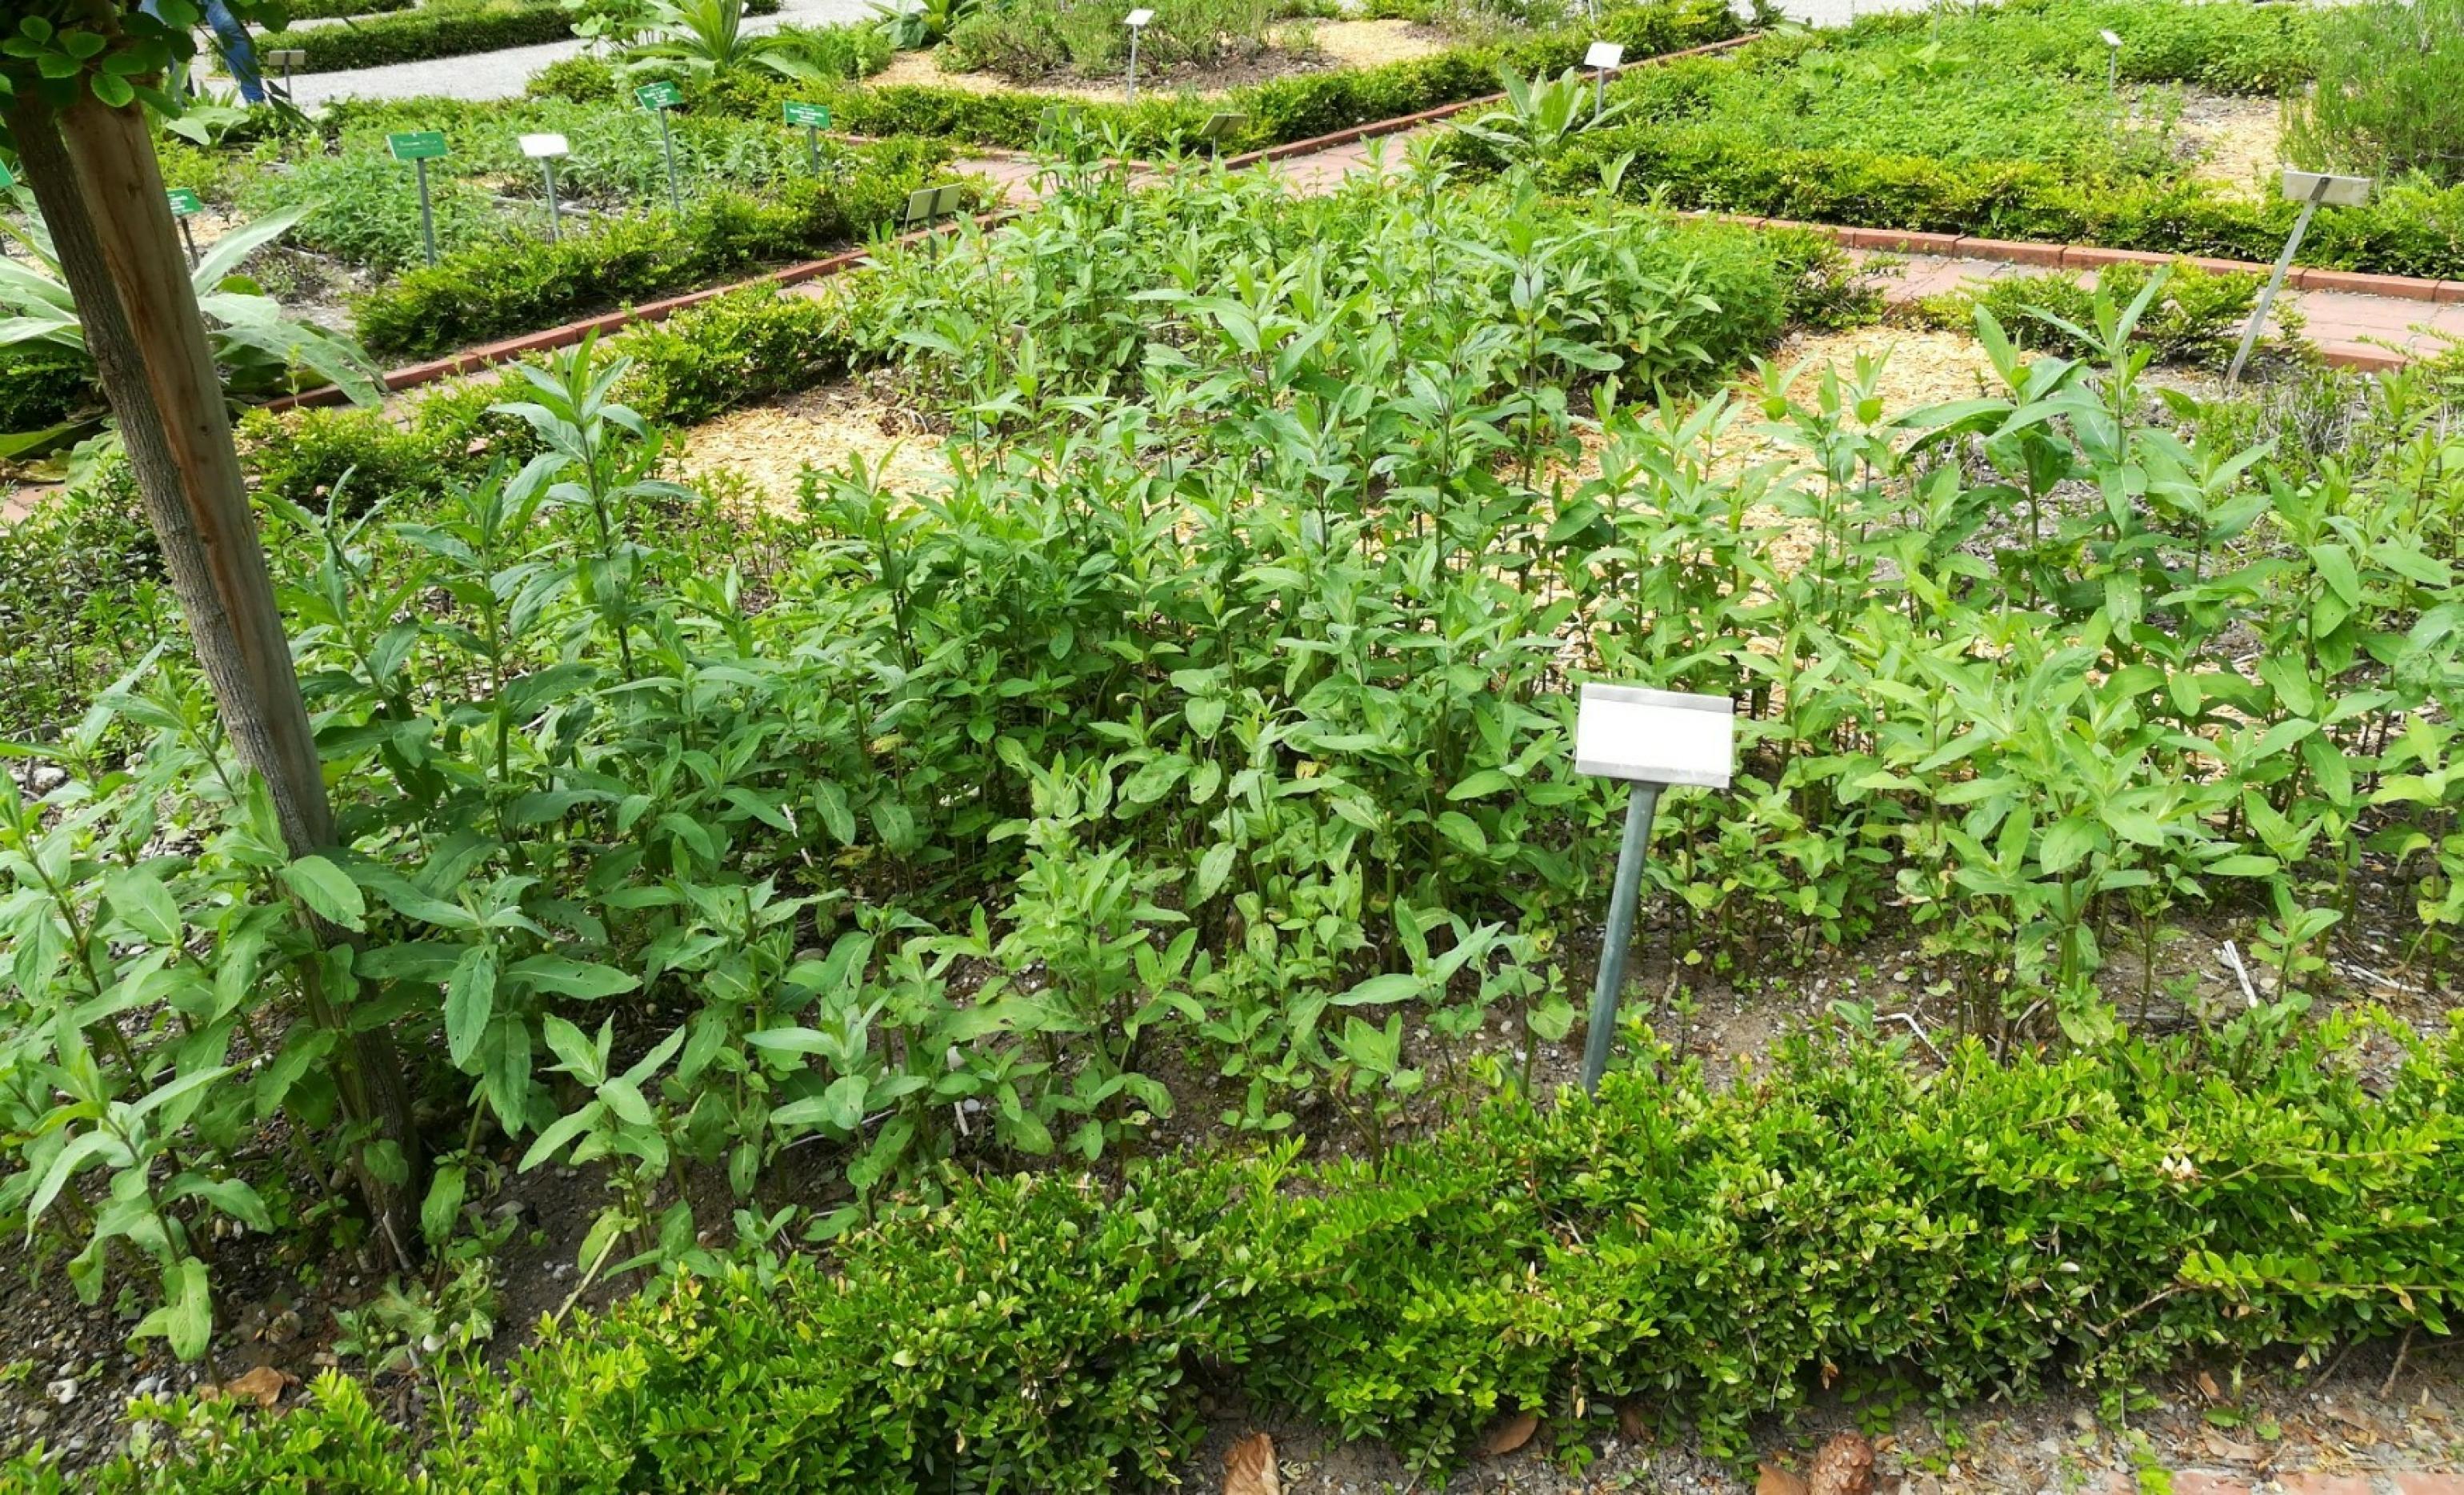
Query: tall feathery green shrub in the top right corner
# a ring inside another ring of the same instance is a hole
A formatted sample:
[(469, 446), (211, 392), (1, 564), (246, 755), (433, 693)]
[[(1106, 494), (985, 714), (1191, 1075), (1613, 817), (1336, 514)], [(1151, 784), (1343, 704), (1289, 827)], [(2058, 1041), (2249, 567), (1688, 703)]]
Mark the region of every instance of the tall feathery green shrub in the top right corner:
[(2319, 81), (2287, 109), (2292, 160), (2464, 185), (2464, 0), (2336, 5), (2319, 30)]

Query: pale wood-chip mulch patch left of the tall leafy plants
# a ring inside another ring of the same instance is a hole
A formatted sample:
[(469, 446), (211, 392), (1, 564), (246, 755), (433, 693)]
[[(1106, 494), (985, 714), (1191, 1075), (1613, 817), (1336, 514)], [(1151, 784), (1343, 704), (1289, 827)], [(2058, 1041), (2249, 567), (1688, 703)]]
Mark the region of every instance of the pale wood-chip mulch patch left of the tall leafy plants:
[(732, 410), (683, 434), (675, 476), (707, 484), (732, 476), (769, 508), (791, 511), (803, 471), (830, 471), (862, 459), (890, 491), (936, 488), (949, 479), (941, 437), (860, 385), (825, 385), (776, 405)]

